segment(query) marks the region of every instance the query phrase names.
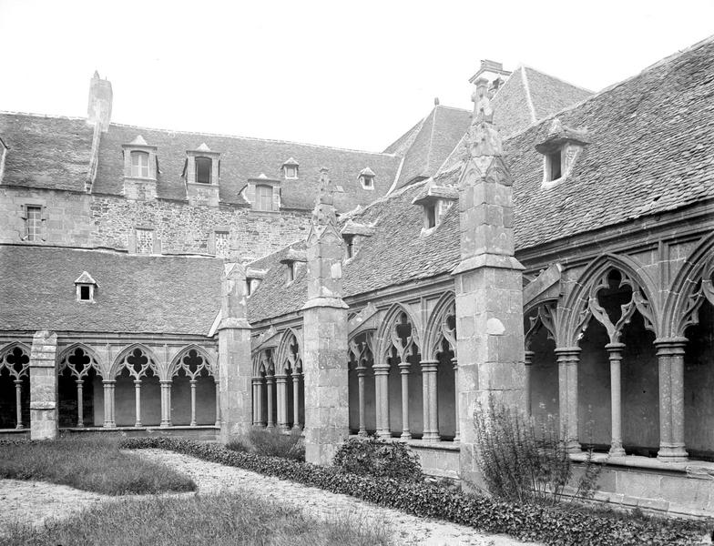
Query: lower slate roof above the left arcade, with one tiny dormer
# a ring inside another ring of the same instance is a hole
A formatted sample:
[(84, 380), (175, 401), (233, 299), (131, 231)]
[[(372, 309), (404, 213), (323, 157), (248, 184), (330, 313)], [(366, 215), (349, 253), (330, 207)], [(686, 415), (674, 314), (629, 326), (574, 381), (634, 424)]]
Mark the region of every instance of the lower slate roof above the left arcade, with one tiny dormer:
[[(222, 269), (216, 258), (0, 246), (0, 329), (207, 335)], [(76, 301), (83, 271), (95, 303)]]

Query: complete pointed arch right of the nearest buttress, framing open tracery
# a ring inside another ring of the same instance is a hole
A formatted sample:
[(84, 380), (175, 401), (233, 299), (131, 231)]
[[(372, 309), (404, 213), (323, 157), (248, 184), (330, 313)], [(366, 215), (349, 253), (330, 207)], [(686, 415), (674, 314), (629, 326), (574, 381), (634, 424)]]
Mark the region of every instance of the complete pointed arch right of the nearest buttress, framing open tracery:
[[(576, 280), (575, 288), (563, 300), (561, 307), (557, 308), (556, 339), (563, 347), (576, 347), (580, 334), (587, 328), (592, 312), (588, 308), (590, 291), (594, 285), (609, 270), (615, 269), (627, 284), (633, 284), (633, 301), (637, 310), (645, 319), (646, 328), (652, 330), (655, 336), (660, 331), (661, 317), (659, 299), (655, 282), (639, 263), (628, 256), (617, 254), (602, 254), (594, 259)], [(635, 296), (639, 294), (639, 296)]]

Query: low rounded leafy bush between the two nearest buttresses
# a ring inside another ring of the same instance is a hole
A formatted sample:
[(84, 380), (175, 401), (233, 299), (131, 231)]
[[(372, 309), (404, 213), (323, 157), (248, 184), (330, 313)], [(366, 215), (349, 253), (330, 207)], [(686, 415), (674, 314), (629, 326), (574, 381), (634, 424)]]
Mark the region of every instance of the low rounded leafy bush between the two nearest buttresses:
[(352, 474), (393, 478), (395, 480), (423, 480), (419, 458), (405, 444), (398, 441), (351, 438), (342, 442), (335, 453), (335, 467)]

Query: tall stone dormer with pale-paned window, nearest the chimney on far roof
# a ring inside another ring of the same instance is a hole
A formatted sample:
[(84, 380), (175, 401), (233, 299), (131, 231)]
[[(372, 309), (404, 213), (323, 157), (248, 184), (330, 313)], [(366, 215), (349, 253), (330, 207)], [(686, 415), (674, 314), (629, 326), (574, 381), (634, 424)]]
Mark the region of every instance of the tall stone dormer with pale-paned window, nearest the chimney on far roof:
[(124, 197), (137, 201), (156, 199), (158, 159), (157, 147), (150, 146), (138, 135), (122, 144), (124, 155)]

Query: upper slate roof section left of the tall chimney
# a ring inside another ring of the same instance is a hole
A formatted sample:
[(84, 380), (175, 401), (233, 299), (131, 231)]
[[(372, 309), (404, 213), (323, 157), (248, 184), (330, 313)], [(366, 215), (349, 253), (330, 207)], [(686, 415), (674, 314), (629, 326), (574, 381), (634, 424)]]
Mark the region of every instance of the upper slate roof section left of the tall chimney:
[(83, 118), (0, 112), (3, 184), (84, 191), (92, 133)]

